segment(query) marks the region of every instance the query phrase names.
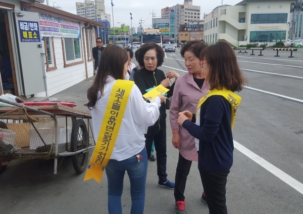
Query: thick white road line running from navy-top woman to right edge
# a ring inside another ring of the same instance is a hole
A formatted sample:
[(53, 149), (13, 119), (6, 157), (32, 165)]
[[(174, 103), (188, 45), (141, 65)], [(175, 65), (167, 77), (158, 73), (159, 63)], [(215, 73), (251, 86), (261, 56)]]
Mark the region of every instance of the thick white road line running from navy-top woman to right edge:
[(290, 177), (289, 175), (284, 173), (281, 169), (277, 168), (276, 166), (274, 166), (270, 162), (266, 161), (265, 159), (263, 159), (256, 153), (250, 151), (246, 147), (242, 146), (238, 142), (236, 142), (236, 141), (233, 141), (233, 142), (234, 142), (234, 147), (239, 152), (241, 152), (245, 156), (249, 157), (251, 160), (255, 161), (259, 165), (261, 165), (263, 168), (268, 170), (268, 172), (272, 173), (274, 176), (281, 179), (283, 182), (285, 182), (286, 184), (288, 184), (293, 189), (295, 189), (296, 191), (298, 191), (299, 193), (301, 193), (303, 195), (303, 184), (302, 183), (300, 183), (297, 180), (295, 180), (294, 178)]

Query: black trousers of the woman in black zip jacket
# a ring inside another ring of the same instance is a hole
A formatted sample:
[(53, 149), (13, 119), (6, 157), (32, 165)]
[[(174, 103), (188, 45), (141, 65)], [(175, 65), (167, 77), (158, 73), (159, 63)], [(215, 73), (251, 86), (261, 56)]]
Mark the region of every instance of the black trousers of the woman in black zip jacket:
[(160, 130), (156, 135), (144, 135), (147, 157), (151, 153), (151, 146), (155, 142), (156, 157), (157, 157), (157, 175), (159, 181), (166, 182), (166, 129)]

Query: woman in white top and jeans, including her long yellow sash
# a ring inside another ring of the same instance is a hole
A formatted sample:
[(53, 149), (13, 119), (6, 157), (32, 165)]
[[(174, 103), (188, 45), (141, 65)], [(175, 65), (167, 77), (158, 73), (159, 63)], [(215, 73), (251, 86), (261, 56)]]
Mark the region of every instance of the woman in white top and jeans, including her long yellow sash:
[[(115, 45), (107, 46), (93, 84), (87, 90), (87, 106), (91, 110), (93, 137), (97, 142), (92, 158), (97, 152), (98, 159), (93, 164), (91, 159), (86, 175), (92, 172), (95, 165), (100, 166), (97, 173), (105, 167), (110, 214), (122, 213), (121, 195), (125, 171), (130, 180), (130, 213), (143, 213), (147, 153), (141, 127), (156, 122), (161, 102), (166, 99), (159, 95), (146, 103), (134, 82), (124, 80), (127, 61), (125, 50)], [(103, 154), (103, 159), (100, 154)]]

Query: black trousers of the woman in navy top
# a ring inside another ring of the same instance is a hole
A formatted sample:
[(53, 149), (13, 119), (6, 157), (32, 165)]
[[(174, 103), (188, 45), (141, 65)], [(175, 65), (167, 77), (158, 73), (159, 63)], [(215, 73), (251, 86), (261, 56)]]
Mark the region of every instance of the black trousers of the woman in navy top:
[(226, 182), (229, 170), (205, 172), (199, 169), (210, 214), (227, 214)]

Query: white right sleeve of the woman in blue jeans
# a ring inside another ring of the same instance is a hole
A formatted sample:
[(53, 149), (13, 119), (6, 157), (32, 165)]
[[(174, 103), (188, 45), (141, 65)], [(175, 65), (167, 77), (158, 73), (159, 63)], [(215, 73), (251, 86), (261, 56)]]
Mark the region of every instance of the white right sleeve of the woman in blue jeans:
[(129, 101), (131, 114), (136, 123), (146, 127), (155, 124), (160, 115), (161, 100), (159, 97), (156, 97), (150, 103), (146, 103), (139, 88), (134, 84)]

